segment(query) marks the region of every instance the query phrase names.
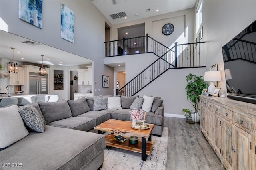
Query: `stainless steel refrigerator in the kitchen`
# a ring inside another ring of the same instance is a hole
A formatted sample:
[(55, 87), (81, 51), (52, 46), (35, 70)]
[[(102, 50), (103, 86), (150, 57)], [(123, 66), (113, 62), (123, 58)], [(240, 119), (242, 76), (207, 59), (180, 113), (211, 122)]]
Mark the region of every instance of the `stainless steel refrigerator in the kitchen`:
[(48, 94), (48, 74), (29, 72), (29, 94)]

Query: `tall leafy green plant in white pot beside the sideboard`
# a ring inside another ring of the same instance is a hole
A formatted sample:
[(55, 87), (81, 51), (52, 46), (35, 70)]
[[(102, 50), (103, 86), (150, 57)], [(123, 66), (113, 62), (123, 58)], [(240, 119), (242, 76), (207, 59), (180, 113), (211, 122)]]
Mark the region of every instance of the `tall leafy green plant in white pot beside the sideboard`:
[[(187, 99), (190, 100), (196, 113), (196, 122), (199, 121), (199, 95), (201, 95), (204, 88), (208, 88), (208, 84), (202, 79), (203, 76), (192, 75), (191, 73), (186, 76), (186, 93)], [(198, 116), (197, 116), (198, 115)]]

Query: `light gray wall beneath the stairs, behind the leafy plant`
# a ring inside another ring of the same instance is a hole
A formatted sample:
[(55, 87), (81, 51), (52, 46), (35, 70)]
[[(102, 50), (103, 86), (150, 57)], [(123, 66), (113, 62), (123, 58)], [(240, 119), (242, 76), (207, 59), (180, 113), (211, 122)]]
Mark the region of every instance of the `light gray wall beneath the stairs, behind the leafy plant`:
[(138, 92), (143, 96), (158, 96), (164, 100), (164, 113), (166, 116), (183, 117), (182, 109), (192, 109), (193, 105), (187, 100), (185, 87), (187, 85), (186, 75), (204, 75), (205, 68), (193, 69), (170, 69), (146, 88)]

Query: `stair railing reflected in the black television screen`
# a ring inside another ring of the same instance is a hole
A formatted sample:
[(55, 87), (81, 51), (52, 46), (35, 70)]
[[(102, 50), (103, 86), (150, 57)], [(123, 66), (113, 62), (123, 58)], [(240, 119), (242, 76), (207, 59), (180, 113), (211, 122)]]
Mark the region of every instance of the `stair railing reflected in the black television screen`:
[(234, 38), (222, 47), (224, 62), (236, 59), (256, 63), (256, 43)]

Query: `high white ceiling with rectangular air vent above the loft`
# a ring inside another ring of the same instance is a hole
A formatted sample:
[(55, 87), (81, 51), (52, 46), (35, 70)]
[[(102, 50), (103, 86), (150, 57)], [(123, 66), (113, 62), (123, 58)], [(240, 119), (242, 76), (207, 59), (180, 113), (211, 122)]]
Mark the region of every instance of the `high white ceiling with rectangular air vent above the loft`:
[[(196, 0), (91, 0), (112, 23), (119, 24), (141, 18), (193, 8)], [(156, 10), (159, 10), (158, 12)], [(110, 14), (125, 12), (124, 17), (112, 19)]]

